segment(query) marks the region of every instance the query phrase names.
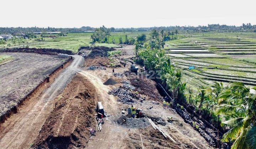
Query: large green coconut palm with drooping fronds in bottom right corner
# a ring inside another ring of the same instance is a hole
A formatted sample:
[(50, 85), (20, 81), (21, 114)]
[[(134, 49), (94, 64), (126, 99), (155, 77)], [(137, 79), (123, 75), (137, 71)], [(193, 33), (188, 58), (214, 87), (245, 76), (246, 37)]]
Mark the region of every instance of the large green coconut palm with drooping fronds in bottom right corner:
[(222, 126), (229, 128), (222, 141), (234, 141), (231, 149), (256, 148), (256, 87), (233, 83), (220, 98), (223, 104), (217, 107), (216, 114), (229, 118), (222, 122)]

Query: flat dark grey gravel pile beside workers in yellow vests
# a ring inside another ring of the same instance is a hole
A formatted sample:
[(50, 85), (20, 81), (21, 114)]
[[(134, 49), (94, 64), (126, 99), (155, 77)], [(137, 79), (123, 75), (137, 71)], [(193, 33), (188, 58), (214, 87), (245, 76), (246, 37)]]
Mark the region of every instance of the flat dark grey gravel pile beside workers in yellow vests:
[(143, 118), (132, 118), (131, 115), (122, 115), (117, 119), (117, 123), (127, 128), (145, 128), (150, 125), (149, 121)]

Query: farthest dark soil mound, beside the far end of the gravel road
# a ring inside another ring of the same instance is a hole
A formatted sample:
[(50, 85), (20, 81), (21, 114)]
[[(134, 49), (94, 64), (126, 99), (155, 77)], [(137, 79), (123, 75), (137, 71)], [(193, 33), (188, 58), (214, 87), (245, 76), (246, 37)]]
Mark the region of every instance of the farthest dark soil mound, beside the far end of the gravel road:
[(114, 48), (108, 48), (106, 46), (95, 46), (93, 48), (90, 48), (91, 53), (87, 57), (96, 57), (96, 56), (101, 56), (101, 57), (107, 57), (108, 56), (108, 51), (114, 51)]

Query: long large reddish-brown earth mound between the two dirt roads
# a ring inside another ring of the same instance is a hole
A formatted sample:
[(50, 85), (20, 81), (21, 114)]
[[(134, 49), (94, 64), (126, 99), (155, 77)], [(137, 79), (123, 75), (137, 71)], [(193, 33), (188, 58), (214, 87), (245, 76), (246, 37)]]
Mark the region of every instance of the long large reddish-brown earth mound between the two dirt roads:
[(32, 148), (85, 148), (95, 124), (95, 87), (76, 75), (56, 101)]

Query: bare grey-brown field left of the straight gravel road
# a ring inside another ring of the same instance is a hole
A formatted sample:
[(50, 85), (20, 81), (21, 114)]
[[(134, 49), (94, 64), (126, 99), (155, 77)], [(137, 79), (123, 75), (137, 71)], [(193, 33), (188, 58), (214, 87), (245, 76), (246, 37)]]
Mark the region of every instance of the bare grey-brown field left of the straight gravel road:
[(0, 115), (40, 84), (46, 75), (62, 65), (67, 58), (32, 53), (0, 53), (14, 60), (0, 65)]

